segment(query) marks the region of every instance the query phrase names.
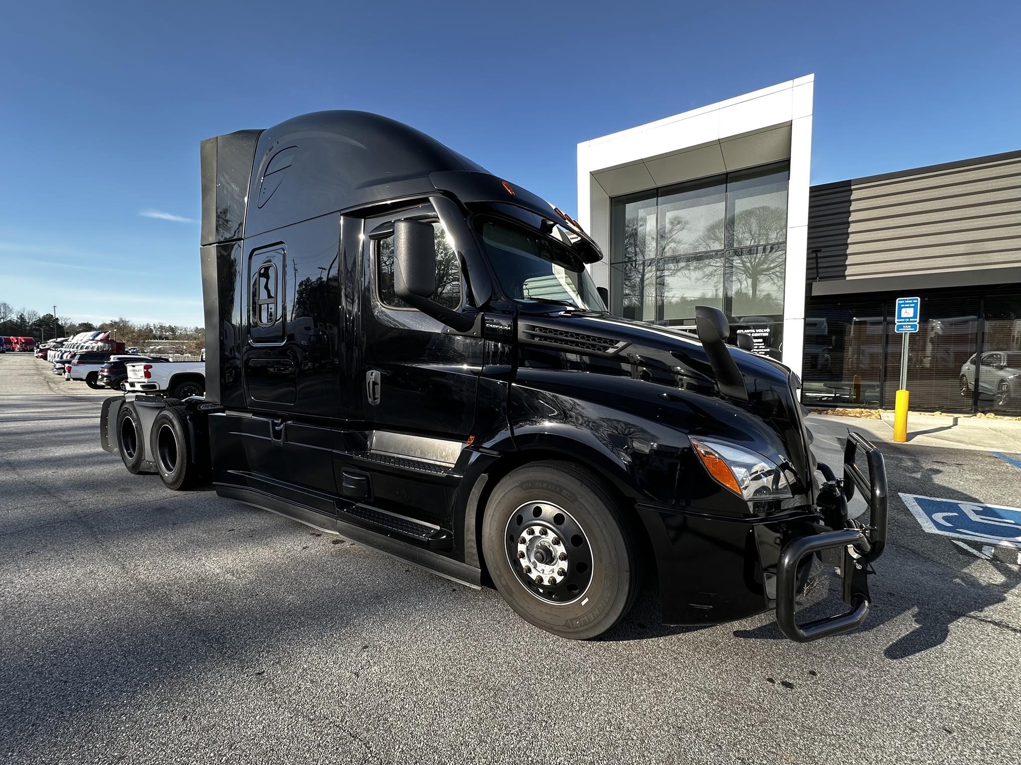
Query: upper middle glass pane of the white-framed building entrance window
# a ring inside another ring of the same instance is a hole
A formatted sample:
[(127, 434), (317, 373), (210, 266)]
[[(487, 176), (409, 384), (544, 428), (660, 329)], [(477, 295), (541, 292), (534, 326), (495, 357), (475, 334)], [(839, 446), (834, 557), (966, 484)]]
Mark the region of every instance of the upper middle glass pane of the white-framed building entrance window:
[(669, 257), (724, 247), (726, 184), (700, 181), (660, 192), (657, 255)]

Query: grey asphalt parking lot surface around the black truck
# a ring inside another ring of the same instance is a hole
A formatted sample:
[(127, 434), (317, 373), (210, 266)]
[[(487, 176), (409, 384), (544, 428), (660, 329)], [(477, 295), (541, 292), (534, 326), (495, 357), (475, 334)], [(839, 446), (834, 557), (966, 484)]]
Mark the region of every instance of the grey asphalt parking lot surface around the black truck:
[[(99, 447), (108, 392), (49, 367), (0, 356), (4, 762), (1021, 758), (1019, 550), (926, 532), (898, 496), (1019, 507), (1010, 460), (883, 446), (890, 544), (858, 631), (664, 627), (648, 589), (578, 643), (495, 591), (131, 475)], [(840, 428), (813, 427), (836, 454)]]

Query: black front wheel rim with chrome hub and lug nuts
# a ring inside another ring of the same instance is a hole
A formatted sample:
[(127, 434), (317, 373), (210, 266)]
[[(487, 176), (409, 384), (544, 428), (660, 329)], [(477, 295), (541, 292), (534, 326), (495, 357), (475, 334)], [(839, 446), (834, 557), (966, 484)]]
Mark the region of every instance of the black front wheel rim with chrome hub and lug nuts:
[(567, 605), (583, 598), (595, 561), (588, 537), (571, 513), (551, 502), (523, 503), (507, 519), (510, 570), (538, 600)]

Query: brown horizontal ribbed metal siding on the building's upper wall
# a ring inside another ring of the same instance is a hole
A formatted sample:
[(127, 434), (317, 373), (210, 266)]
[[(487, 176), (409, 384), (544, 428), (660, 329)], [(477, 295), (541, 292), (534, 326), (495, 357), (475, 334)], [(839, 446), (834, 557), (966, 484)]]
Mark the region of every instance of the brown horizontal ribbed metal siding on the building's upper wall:
[[(818, 253), (818, 271), (817, 256)], [(810, 282), (1021, 263), (1021, 152), (813, 187)]]

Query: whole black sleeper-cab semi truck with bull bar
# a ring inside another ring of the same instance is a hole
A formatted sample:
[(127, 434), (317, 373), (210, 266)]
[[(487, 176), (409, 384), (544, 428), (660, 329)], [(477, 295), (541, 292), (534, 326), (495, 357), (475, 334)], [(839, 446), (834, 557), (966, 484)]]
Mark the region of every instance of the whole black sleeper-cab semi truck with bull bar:
[[(804, 642), (865, 620), (882, 455), (853, 435), (842, 477), (817, 464), (800, 381), (722, 312), (695, 336), (612, 316), (576, 221), (382, 116), (305, 114), (201, 160), (205, 396), (107, 399), (130, 471), (491, 583), (565, 638), (612, 627), (643, 571), (667, 624), (775, 608)], [(817, 556), (847, 608), (798, 624)]]

